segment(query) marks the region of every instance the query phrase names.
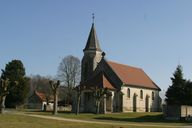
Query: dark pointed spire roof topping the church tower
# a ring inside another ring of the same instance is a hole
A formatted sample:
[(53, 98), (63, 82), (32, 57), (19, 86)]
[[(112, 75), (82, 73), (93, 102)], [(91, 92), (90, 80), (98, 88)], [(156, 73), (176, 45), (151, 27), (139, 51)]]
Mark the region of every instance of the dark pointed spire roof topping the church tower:
[(97, 51), (101, 51), (101, 48), (99, 46), (99, 40), (97, 38), (97, 34), (96, 34), (96, 30), (94, 27), (94, 23), (92, 24), (90, 33), (89, 33), (89, 37), (87, 40), (87, 44), (84, 48), (83, 51), (85, 50), (97, 50)]

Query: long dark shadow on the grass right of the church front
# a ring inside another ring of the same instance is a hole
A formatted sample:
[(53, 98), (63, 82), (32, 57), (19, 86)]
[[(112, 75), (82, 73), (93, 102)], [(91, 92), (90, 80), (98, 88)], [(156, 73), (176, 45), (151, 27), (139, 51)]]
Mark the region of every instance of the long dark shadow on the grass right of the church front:
[(165, 120), (163, 115), (146, 115), (135, 118), (120, 118), (120, 117), (106, 117), (100, 116), (95, 117), (98, 120), (108, 120), (108, 121), (124, 121), (124, 122), (146, 122), (146, 123), (186, 123), (192, 125), (192, 122), (187, 121), (175, 121), (175, 120)]

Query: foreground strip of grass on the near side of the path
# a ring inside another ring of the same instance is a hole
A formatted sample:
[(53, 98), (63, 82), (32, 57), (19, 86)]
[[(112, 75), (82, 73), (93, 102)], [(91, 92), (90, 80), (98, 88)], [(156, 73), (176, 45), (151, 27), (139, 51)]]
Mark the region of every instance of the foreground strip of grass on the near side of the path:
[[(143, 126), (125, 126), (125, 125), (105, 125), (74, 123), (66, 121), (57, 121), (52, 119), (43, 119), (30, 117), (27, 115), (3, 114), (0, 115), (0, 128), (153, 128)], [(161, 128), (156, 127), (156, 128)]]

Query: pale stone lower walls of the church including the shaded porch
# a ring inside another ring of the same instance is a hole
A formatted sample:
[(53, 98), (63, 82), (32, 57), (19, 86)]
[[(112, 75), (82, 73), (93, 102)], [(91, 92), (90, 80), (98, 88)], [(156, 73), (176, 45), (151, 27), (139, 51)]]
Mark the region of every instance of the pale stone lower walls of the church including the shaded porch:
[[(128, 91), (130, 90), (130, 91)], [(76, 108), (73, 110), (75, 111)], [(123, 86), (121, 92), (111, 91), (111, 96), (101, 101), (101, 113), (104, 112), (158, 112), (161, 110), (159, 91), (132, 86)], [(96, 111), (95, 98), (92, 92), (83, 91), (80, 112)]]

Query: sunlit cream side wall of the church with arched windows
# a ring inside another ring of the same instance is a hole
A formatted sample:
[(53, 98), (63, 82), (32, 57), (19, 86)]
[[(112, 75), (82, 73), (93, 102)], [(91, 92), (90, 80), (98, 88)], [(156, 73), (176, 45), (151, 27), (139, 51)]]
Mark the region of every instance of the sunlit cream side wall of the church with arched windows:
[[(128, 97), (127, 95), (128, 88), (130, 89), (130, 97)], [(141, 98), (140, 96), (141, 90), (143, 92), (143, 98)], [(133, 112), (134, 107), (136, 107), (135, 108), (136, 112), (160, 111), (161, 103), (160, 103), (158, 90), (124, 86), (122, 87), (122, 92), (124, 94), (123, 95), (123, 112)], [(152, 99), (152, 92), (154, 92), (154, 99)], [(147, 104), (148, 104), (148, 107), (146, 106)]]

